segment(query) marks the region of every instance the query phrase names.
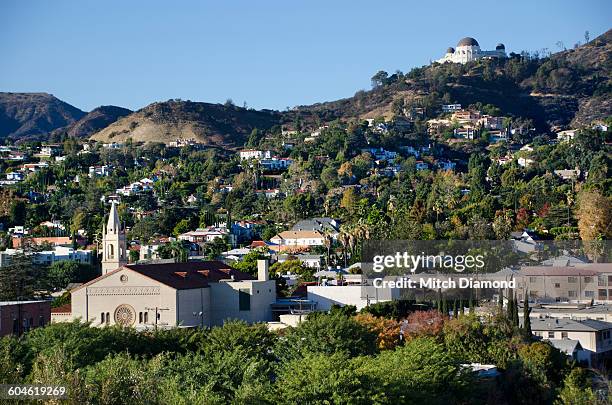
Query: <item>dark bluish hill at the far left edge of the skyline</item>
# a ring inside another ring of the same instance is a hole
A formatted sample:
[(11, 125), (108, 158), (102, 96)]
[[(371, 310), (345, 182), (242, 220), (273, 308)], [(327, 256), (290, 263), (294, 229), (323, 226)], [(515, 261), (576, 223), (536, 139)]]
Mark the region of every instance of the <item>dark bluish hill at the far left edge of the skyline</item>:
[(0, 138), (40, 139), (85, 115), (47, 93), (0, 93)]

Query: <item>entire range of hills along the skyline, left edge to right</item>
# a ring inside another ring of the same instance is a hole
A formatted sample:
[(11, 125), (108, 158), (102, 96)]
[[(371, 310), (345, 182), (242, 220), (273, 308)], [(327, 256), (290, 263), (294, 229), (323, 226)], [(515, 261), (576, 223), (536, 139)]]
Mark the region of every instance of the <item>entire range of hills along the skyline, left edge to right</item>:
[(500, 61), (481, 59), (466, 65), (415, 68), (387, 76), (376, 88), (360, 90), (352, 97), (286, 112), (169, 100), (133, 113), (103, 106), (85, 114), (46, 93), (0, 93), (0, 138), (46, 139), (49, 134), (66, 134), (104, 142), (132, 138), (164, 143), (193, 138), (234, 147), (242, 145), (253, 128), (390, 119), (409, 113), (412, 107), (424, 107), (426, 117), (433, 117), (441, 103), (449, 102), (492, 104), (504, 115), (531, 119), (546, 132), (612, 115), (611, 69), (612, 30), (588, 44), (546, 58), (510, 54)]

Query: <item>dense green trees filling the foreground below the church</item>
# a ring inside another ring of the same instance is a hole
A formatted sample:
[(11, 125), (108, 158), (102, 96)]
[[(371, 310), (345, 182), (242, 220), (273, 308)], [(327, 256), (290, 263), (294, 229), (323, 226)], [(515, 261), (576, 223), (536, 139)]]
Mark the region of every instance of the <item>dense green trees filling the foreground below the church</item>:
[[(65, 385), (74, 404), (549, 404), (561, 388), (559, 403), (592, 398), (582, 371), (503, 314), (447, 319), (386, 350), (364, 319), (316, 313), (279, 334), (238, 321), (149, 332), (52, 324), (0, 340), (0, 382)], [(473, 362), (500, 377), (478, 378)]]

